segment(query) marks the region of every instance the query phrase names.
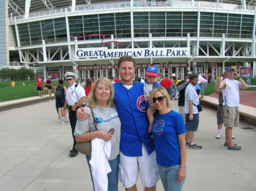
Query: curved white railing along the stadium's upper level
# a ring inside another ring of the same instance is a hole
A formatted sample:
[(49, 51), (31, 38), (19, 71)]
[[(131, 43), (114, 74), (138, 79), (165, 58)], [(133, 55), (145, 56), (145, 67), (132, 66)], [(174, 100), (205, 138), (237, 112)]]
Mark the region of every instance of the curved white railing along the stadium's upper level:
[[(121, 2), (121, 3), (101, 3), (101, 4), (93, 4), (93, 5), (85, 5), (85, 6), (76, 6), (76, 7), (68, 7), (63, 9), (55, 9), (43, 12), (34, 12), (28, 14), (27, 16), (11, 16), (9, 18), (9, 22), (13, 22), (15, 20), (24, 20), (24, 19), (32, 19), (32, 18), (40, 18), (44, 16), (51, 15), (59, 15), (65, 14), (66, 12), (81, 12), (81, 11), (96, 11), (96, 10), (109, 10), (109, 9), (130, 9), (131, 3), (129, 2)], [(249, 11), (255, 12), (255, 7), (252, 6), (241, 6), (234, 4), (225, 4), (225, 3), (208, 3), (208, 2), (195, 2), (193, 6), (190, 1), (168, 1), (168, 2), (144, 2), (144, 1), (135, 1), (133, 3), (133, 7), (169, 7), (169, 8), (197, 8), (199, 9), (210, 9), (210, 10), (241, 10), (241, 11)]]

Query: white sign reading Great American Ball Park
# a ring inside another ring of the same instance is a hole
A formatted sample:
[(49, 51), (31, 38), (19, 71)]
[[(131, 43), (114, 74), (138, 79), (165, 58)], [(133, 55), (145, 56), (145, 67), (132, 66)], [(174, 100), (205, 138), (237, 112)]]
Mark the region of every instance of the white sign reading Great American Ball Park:
[(151, 57), (188, 57), (190, 48), (127, 48), (127, 49), (108, 49), (103, 48), (77, 48), (75, 58), (119, 58), (121, 56), (131, 56), (133, 58), (151, 58)]

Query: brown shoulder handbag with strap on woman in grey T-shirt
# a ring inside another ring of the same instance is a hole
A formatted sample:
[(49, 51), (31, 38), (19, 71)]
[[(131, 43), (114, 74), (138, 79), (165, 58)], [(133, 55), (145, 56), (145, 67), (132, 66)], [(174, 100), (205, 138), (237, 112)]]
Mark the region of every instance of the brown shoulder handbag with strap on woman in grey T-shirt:
[[(97, 122), (96, 122), (96, 120), (94, 118), (94, 114), (93, 114), (92, 108), (89, 107), (88, 105), (86, 107), (90, 108), (90, 111), (92, 112), (93, 124), (95, 126), (96, 131), (97, 131), (98, 130), (97, 129)], [(81, 154), (84, 154), (84, 155), (87, 155), (87, 156), (92, 156), (92, 141), (76, 143), (75, 148)]]

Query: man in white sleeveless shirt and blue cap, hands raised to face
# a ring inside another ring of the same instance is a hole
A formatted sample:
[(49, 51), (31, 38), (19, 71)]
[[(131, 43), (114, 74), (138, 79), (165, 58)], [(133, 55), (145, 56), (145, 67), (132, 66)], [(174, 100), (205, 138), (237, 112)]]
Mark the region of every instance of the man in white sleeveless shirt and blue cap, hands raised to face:
[[(219, 84), (215, 84), (215, 88), (222, 89), (224, 99), (224, 125), (226, 127), (226, 142), (224, 146), (228, 146), (228, 150), (241, 150), (241, 146), (237, 146), (232, 142), (232, 130), (239, 125), (239, 88), (247, 89), (247, 84), (236, 73), (233, 67), (226, 70), (227, 79), (222, 80)], [(238, 80), (234, 80), (234, 77)]]

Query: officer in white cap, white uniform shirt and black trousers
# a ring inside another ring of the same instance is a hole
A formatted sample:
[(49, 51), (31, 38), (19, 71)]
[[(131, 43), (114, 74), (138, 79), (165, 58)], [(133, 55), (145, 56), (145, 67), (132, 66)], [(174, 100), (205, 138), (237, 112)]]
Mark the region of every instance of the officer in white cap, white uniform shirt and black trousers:
[(71, 153), (69, 154), (69, 156), (74, 157), (78, 155), (78, 152), (75, 148), (76, 138), (74, 135), (74, 131), (76, 128), (76, 121), (77, 121), (76, 109), (80, 107), (84, 107), (85, 91), (84, 91), (84, 88), (82, 88), (82, 86), (78, 86), (76, 84), (75, 79), (77, 78), (77, 75), (75, 73), (71, 73), (71, 72), (65, 73), (64, 77), (66, 78), (69, 87), (67, 89), (66, 101), (65, 101), (61, 115), (64, 117), (65, 109), (68, 108), (69, 121), (70, 121), (72, 136), (74, 140), (73, 149), (70, 150)]

